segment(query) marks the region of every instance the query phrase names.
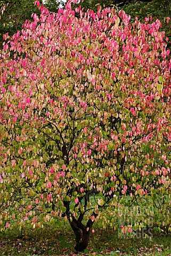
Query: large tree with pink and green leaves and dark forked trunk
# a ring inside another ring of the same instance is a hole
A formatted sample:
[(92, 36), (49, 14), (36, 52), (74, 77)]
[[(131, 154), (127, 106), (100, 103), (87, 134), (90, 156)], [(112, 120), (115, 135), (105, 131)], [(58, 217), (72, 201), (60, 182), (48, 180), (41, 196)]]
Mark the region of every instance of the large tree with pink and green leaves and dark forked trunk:
[(119, 228), (127, 206), (153, 206), (170, 230), (171, 63), (159, 20), (100, 6), (76, 18), (71, 2), (55, 14), (36, 1), (40, 18), (4, 35), (0, 225), (64, 217), (84, 251), (93, 223)]

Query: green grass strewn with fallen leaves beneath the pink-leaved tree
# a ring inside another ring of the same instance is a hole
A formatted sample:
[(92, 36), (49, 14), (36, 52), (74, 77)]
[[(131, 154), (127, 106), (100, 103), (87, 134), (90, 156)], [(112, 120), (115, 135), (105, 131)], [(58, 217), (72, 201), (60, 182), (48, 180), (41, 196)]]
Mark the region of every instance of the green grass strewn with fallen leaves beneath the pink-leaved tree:
[[(61, 228), (47, 223), (44, 229), (26, 228), (24, 234), (17, 229), (0, 234), (1, 256), (76, 255), (74, 234), (68, 222)], [(77, 255), (171, 255), (171, 236), (153, 235), (151, 239), (118, 238), (112, 229), (95, 229), (88, 249)]]

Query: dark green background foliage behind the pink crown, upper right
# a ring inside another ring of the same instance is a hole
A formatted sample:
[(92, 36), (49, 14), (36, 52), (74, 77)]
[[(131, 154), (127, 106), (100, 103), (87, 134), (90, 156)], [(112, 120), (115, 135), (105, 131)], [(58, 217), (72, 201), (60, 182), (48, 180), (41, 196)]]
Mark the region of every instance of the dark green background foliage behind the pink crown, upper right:
[(84, 7), (85, 10), (92, 9), (96, 12), (99, 4), (102, 5), (103, 9), (110, 6), (117, 7), (118, 10), (124, 10), (127, 14), (131, 15), (130, 22), (134, 22), (135, 17), (139, 18), (141, 22), (144, 22), (144, 19), (148, 17), (152, 17), (153, 21), (159, 19), (162, 25), (160, 31), (166, 31), (166, 36), (168, 37), (167, 48), (170, 49), (170, 0), (85, 0), (82, 3), (82, 7)]

